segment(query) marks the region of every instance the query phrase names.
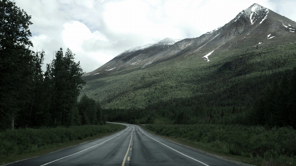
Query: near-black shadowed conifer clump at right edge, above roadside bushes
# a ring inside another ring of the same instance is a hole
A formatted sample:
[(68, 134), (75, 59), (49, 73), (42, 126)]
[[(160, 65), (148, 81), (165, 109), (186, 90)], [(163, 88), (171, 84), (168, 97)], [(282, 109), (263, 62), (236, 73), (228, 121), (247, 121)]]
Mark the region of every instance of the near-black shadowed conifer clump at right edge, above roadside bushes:
[(295, 119), (295, 92), (294, 77), (296, 68), (288, 79), (286, 75), (278, 83), (277, 79), (261, 92), (253, 106), (253, 123), (269, 126), (290, 125), (296, 128)]

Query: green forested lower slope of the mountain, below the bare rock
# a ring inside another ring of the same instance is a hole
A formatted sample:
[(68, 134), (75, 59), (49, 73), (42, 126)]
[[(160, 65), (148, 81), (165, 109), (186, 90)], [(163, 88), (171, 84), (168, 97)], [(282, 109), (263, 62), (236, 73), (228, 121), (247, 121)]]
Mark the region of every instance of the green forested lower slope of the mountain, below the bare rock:
[(283, 86), (285, 91), (293, 94), (296, 42), (235, 49), (211, 58), (205, 63), (185, 55), (147, 68), (103, 75), (87, 80), (82, 94), (100, 100), (105, 109), (199, 117), (186, 123), (217, 122), (232, 112), (251, 110), (262, 90), (283, 77), (290, 85)]

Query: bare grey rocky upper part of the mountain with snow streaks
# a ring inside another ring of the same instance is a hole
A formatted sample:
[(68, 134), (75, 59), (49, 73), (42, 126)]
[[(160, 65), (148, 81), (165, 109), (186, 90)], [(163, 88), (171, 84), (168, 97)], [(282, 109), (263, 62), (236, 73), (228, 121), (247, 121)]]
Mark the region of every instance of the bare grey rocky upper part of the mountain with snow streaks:
[(123, 51), (105, 65), (85, 75), (105, 74), (135, 66), (145, 67), (188, 52), (197, 56), (203, 55), (202, 58), (209, 61), (208, 56), (217, 49), (219, 51), (220, 47), (231, 50), (241, 47), (242, 44), (257, 47), (258, 44), (290, 41), (287, 38), (295, 36), (295, 29), (296, 22), (255, 3), (224, 26), (198, 38), (181, 41), (165, 38), (157, 43), (134, 47)]

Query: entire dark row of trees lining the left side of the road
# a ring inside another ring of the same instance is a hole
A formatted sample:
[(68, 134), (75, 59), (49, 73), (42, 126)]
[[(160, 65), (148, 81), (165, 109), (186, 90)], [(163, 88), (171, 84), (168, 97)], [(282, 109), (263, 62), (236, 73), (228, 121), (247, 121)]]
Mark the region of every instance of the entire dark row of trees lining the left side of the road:
[(0, 131), (7, 128), (104, 124), (98, 102), (84, 96), (75, 54), (61, 48), (42, 71), (44, 51), (31, 51), (31, 16), (0, 1)]

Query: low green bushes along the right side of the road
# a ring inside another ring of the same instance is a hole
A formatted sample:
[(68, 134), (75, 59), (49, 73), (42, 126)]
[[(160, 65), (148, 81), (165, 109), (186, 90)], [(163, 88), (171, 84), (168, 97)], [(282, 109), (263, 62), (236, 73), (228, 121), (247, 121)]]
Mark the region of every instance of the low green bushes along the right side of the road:
[(292, 127), (221, 124), (149, 124), (143, 127), (164, 136), (192, 141), (215, 152), (265, 162), (289, 160), (289, 164), (296, 165), (293, 163), (296, 161), (296, 130)]

